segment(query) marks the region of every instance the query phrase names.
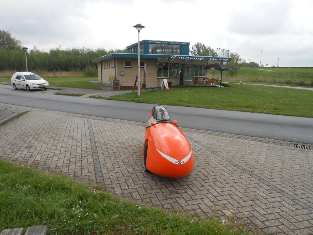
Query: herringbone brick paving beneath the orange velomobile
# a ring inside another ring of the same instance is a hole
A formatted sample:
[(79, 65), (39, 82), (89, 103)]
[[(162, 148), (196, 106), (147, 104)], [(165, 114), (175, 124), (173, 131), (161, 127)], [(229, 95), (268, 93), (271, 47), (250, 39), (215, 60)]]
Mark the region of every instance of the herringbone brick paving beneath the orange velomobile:
[[(158, 208), (234, 216), (237, 224), (268, 234), (313, 233), (312, 150), (182, 128), (194, 151), (194, 170), (164, 178), (143, 170), (144, 123), (32, 110), (0, 128), (1, 159), (103, 185)], [(17, 122), (30, 124), (16, 128)]]

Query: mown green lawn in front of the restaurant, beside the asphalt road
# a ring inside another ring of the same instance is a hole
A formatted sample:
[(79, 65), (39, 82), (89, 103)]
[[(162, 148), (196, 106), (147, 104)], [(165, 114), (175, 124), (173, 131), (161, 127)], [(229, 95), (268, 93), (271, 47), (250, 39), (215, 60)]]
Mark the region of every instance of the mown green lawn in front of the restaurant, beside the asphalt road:
[(169, 91), (144, 90), (140, 97), (134, 92), (105, 99), (313, 118), (313, 91), (284, 87), (170, 87)]

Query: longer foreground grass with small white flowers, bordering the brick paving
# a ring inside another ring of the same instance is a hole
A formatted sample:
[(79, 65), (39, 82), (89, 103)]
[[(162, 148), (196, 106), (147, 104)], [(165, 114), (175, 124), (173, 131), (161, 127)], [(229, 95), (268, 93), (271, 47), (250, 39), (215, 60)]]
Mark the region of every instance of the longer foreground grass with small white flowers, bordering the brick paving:
[(0, 231), (47, 225), (48, 234), (250, 234), (230, 216), (166, 213), (90, 189), (66, 177), (0, 160)]

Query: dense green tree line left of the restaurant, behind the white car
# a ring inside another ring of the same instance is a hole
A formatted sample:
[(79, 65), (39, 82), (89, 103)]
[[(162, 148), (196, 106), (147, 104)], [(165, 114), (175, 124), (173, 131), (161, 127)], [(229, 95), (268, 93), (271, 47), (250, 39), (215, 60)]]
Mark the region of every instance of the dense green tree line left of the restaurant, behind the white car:
[[(27, 50), (27, 67), (32, 70), (46, 71), (83, 71), (86, 69), (97, 69), (93, 62), (96, 58), (114, 52), (98, 48), (73, 48), (61, 50), (61, 46), (41, 51), (36, 46)], [(126, 49), (117, 50), (118, 53), (126, 53)], [(25, 51), (22, 49), (21, 41), (13, 38), (9, 32), (0, 30), (0, 70), (26, 70)]]

